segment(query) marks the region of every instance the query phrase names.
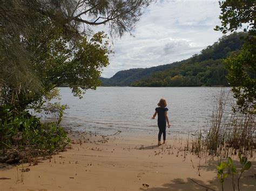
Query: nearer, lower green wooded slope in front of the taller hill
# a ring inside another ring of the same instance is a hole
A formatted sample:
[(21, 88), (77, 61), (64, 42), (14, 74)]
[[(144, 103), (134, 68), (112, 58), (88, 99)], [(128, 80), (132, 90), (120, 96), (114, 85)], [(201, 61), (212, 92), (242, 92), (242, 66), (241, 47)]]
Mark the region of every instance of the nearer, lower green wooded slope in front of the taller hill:
[(164, 72), (154, 73), (131, 86), (227, 86), (223, 60), (183, 63)]

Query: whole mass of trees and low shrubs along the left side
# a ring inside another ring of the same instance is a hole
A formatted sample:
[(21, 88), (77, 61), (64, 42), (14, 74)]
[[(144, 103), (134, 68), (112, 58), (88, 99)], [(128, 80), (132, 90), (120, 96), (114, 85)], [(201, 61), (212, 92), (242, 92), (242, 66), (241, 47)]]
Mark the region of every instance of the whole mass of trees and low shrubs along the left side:
[[(108, 24), (111, 35), (131, 32), (150, 0), (30, 1), (0, 3), (0, 147), (40, 148), (52, 152), (66, 145), (59, 126), (66, 105), (52, 103), (56, 87), (67, 84), (75, 96), (99, 86), (111, 53), (103, 32), (90, 26)], [(58, 113), (42, 124), (28, 109)]]

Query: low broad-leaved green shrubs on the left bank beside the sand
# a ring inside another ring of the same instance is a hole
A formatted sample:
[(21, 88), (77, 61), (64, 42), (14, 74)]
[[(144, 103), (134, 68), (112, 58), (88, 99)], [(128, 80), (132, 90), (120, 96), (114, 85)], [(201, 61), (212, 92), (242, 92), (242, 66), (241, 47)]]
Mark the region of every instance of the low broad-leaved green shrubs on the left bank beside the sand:
[[(45, 100), (39, 100), (29, 105), (36, 112), (58, 112), (56, 122), (42, 124), (39, 117), (33, 116), (28, 110), (19, 110), (14, 105), (0, 106), (0, 148), (8, 150), (15, 148), (18, 151), (38, 150), (38, 153), (48, 154), (63, 150), (69, 143), (66, 132), (59, 126), (66, 105), (57, 104), (55, 109), (49, 108), (52, 98), (59, 97), (59, 90), (53, 89), (46, 94)], [(48, 102), (46, 102), (48, 101)], [(44, 105), (47, 103), (46, 105)], [(4, 153), (2, 153), (4, 154)], [(19, 156), (22, 157), (22, 156)]]

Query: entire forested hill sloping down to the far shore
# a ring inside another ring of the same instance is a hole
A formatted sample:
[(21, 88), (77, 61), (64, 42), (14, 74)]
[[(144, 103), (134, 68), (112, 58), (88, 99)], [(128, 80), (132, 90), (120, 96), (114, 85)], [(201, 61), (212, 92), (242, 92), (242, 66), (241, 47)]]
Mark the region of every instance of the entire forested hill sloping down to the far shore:
[(134, 68), (117, 72), (109, 79), (100, 77), (102, 86), (226, 86), (223, 59), (238, 51), (244, 32), (221, 37), (191, 58), (151, 68)]

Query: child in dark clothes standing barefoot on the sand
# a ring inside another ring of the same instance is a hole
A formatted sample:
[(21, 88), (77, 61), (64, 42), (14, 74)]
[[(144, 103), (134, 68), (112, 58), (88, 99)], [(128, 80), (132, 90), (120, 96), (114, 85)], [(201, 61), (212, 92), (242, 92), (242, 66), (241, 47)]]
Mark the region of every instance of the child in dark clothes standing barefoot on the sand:
[(159, 107), (156, 108), (156, 112), (154, 112), (154, 115), (153, 115), (152, 119), (154, 119), (156, 117), (156, 115), (158, 115), (158, 118), (157, 118), (157, 125), (158, 125), (158, 128), (159, 128), (158, 145), (161, 145), (160, 140), (161, 140), (162, 133), (163, 133), (163, 138), (164, 138), (164, 143), (163, 144), (165, 144), (166, 122), (168, 124), (168, 128), (170, 128), (171, 125), (169, 123), (169, 118), (167, 116), (168, 108), (166, 108), (166, 106), (167, 106), (166, 101), (162, 98), (157, 105)]

